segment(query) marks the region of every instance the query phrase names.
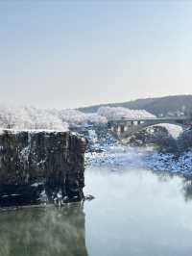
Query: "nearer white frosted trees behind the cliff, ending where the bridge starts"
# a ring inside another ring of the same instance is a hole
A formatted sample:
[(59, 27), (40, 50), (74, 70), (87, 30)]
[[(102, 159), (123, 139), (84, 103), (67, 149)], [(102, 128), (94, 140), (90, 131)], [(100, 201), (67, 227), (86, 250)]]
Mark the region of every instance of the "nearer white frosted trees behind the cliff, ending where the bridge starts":
[(78, 110), (41, 110), (34, 107), (0, 105), (0, 127), (13, 130), (67, 131), (69, 126), (107, 123), (105, 116)]

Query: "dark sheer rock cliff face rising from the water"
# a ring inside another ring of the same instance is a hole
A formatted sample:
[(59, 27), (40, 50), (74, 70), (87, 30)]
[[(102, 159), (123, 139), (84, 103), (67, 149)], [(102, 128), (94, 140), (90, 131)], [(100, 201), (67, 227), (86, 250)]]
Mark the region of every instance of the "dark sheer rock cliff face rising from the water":
[(69, 132), (0, 133), (0, 205), (79, 201), (86, 142)]

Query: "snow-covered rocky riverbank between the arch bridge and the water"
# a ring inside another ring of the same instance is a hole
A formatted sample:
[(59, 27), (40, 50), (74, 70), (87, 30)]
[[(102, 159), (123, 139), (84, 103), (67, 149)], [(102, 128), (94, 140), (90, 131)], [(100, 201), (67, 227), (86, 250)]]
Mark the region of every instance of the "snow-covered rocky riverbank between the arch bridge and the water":
[[(155, 131), (158, 132), (159, 129)], [(109, 134), (106, 136), (109, 140), (101, 142), (97, 138), (97, 133), (90, 131), (89, 141), (92, 144), (92, 148), (95, 145), (97, 150), (94, 151), (92, 149), (85, 153), (85, 163), (87, 166), (111, 166), (111, 168), (115, 168), (115, 166), (145, 167), (158, 172), (164, 171), (172, 174), (192, 176), (192, 149), (188, 146), (184, 150), (183, 143), (186, 134), (189, 136), (189, 133), (183, 133), (183, 138), (179, 138), (179, 134), (178, 138), (173, 138), (169, 136), (168, 132), (166, 133), (164, 127), (162, 131), (166, 138), (171, 141), (166, 144), (164, 150), (153, 144), (149, 146), (146, 143), (141, 143), (142, 146), (138, 146), (138, 143), (137, 145), (135, 143), (133, 145), (125, 145), (118, 140), (112, 140), (112, 135)], [(160, 135), (162, 135), (162, 132)], [(141, 137), (138, 138), (140, 139)], [(157, 138), (157, 134), (153, 134), (153, 137), (149, 137), (148, 134), (146, 138), (150, 138), (152, 141), (152, 138)], [(180, 147), (180, 152), (177, 148), (177, 154), (174, 151), (176, 149), (174, 145)], [(174, 150), (171, 150), (172, 147)]]

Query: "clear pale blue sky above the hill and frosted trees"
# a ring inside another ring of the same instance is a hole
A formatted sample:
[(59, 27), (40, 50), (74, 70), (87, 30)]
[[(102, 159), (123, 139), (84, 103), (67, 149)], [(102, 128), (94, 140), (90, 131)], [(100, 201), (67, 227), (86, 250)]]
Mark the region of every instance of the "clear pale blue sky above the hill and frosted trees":
[(0, 0), (0, 102), (192, 94), (192, 1)]

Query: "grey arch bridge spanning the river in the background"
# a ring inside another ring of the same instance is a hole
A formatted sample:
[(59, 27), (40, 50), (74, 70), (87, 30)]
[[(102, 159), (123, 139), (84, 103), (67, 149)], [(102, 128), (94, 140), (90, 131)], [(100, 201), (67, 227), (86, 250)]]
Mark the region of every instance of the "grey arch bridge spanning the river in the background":
[(143, 130), (144, 128), (160, 124), (170, 123), (180, 126), (192, 126), (192, 118), (186, 116), (179, 117), (156, 117), (156, 118), (138, 118), (108, 121), (108, 129), (121, 138), (127, 138)]

